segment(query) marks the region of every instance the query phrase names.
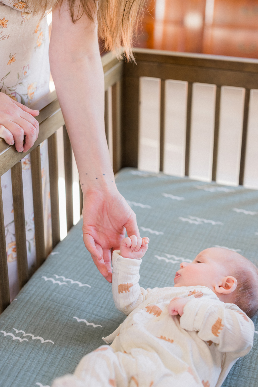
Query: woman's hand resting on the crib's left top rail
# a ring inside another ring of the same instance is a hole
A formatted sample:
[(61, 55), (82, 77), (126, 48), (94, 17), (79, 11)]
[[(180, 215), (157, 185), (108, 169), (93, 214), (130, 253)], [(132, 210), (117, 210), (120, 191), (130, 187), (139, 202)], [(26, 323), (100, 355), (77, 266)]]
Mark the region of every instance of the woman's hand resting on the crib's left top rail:
[(15, 144), (18, 152), (27, 152), (38, 138), (39, 123), (34, 118), (38, 114), (38, 110), (32, 110), (0, 92), (0, 137), (9, 145)]

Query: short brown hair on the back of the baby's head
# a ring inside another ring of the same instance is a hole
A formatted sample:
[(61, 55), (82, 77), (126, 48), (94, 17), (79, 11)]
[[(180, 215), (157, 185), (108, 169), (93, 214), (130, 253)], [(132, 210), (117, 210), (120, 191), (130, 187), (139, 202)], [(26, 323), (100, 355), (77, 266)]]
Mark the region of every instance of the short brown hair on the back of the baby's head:
[(258, 312), (258, 269), (246, 258), (241, 261), (241, 269), (233, 274), (237, 280), (234, 303), (251, 318)]

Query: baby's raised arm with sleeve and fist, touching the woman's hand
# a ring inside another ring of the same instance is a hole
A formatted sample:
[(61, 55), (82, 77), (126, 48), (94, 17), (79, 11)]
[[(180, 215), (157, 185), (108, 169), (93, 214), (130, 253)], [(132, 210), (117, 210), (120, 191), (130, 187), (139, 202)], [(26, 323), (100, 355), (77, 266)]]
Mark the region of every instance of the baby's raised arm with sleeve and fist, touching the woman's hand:
[(120, 251), (113, 252), (112, 292), (114, 303), (118, 310), (126, 315), (140, 305), (149, 293), (149, 289), (140, 288), (138, 284), (141, 257), (147, 251), (148, 243), (149, 238), (143, 238), (137, 250), (137, 237), (131, 236), (121, 242)]

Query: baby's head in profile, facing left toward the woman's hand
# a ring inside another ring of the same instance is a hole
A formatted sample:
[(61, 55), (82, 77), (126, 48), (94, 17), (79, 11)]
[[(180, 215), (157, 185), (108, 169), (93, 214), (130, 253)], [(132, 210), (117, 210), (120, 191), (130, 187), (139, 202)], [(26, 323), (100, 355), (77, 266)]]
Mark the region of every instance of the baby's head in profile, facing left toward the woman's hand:
[(182, 262), (175, 286), (207, 286), (219, 299), (236, 304), (249, 317), (258, 311), (258, 269), (248, 259), (225, 248), (201, 251), (191, 263)]

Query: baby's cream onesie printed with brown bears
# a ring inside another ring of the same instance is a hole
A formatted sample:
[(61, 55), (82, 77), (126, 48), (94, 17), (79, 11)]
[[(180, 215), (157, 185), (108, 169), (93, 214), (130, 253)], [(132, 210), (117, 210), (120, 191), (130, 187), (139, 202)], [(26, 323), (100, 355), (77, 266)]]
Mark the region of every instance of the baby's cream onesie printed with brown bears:
[[(142, 260), (119, 253), (113, 252), (112, 291), (128, 317), (103, 338), (111, 346), (84, 356), (74, 376), (53, 387), (220, 387), (252, 348), (253, 322), (205, 286), (141, 288)], [(167, 311), (176, 296), (189, 297), (181, 317)]]

